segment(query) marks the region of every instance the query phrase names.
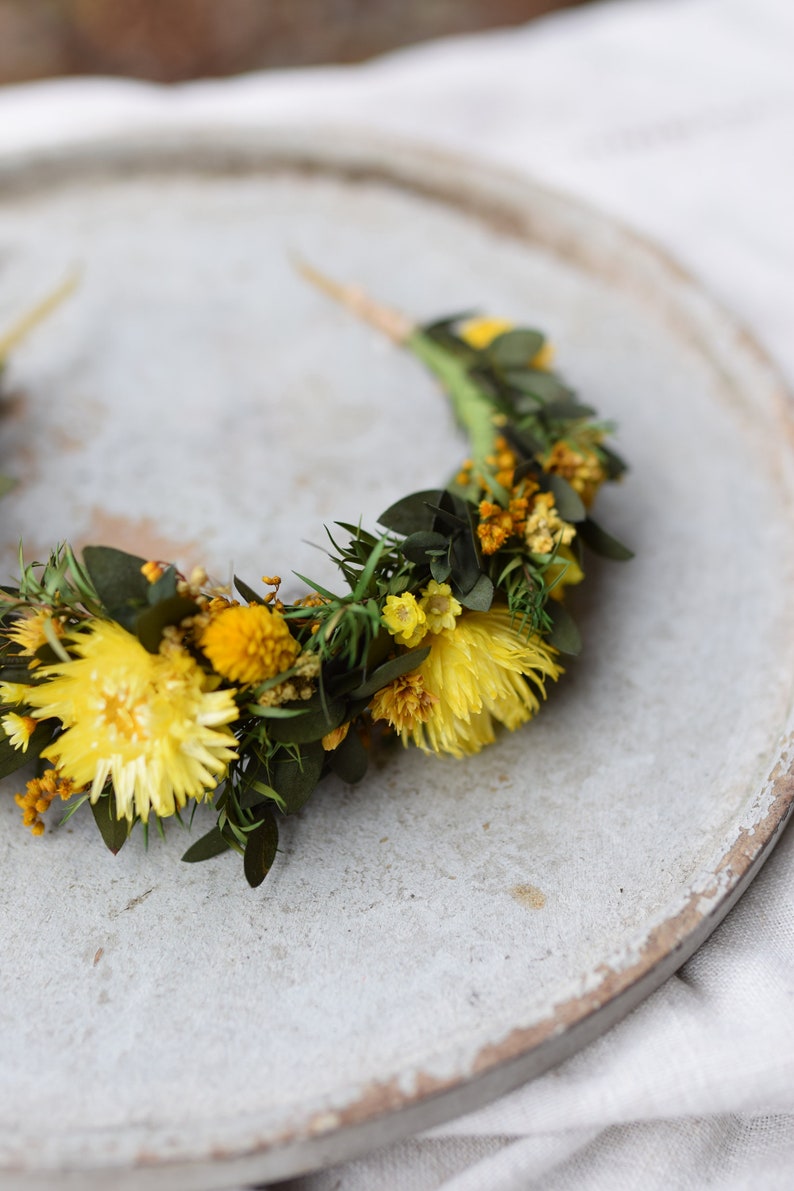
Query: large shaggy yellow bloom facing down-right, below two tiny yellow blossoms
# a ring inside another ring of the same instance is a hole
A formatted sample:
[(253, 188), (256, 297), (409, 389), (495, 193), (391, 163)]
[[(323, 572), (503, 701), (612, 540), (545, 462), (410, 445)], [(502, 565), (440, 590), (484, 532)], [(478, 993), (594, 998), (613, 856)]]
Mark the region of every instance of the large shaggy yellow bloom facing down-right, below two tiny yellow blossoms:
[(434, 700), (425, 698), (414, 711), (409, 699), (399, 703), (399, 692), (379, 692), (373, 713), (383, 712), (404, 744), (458, 757), (479, 753), (494, 740), (494, 721), (513, 730), (536, 713), (545, 679), (562, 673), (556, 655), (539, 637), (520, 632), (506, 607), (464, 612), (454, 629), (432, 637), (427, 657), (406, 675)]

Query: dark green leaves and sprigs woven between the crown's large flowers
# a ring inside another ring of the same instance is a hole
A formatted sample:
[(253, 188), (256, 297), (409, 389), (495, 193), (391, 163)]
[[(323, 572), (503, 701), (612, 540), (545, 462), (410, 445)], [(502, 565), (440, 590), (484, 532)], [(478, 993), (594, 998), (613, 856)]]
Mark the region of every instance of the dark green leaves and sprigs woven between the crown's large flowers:
[[(263, 631), (275, 622), (258, 611), (261, 606), (283, 616), (296, 642), (294, 663), (285, 672), (265, 671), (261, 681), (244, 685), (232, 681), (233, 666), (224, 667), (207, 646), (211, 661), (202, 634), (223, 596), (192, 586), (175, 566), (165, 566), (161, 574), (155, 569), (152, 576), (151, 568), (144, 573), (145, 560), (137, 555), (89, 545), (81, 561), (67, 544), (56, 547), (44, 563), (25, 563), (20, 549), (19, 582), (1, 590), (0, 603), (0, 676), (21, 684), (19, 713), (24, 713), (24, 688), (46, 682), (48, 666), (68, 666), (76, 657), (79, 632), (95, 619), (117, 622), (152, 655), (167, 637), (167, 653), (171, 643), (182, 649), (181, 660), (192, 668), (196, 687), (206, 686), (213, 699), (223, 692), (221, 698), (230, 700), (226, 707), (237, 713), (233, 721), (227, 716), (236, 756), (229, 765), (224, 757), (219, 788), (206, 790), (217, 823), (186, 850), (182, 859), (188, 863), (236, 852), (249, 885), (256, 887), (276, 858), (279, 817), (300, 812), (327, 774), (350, 784), (364, 777), (374, 696), (408, 675), (414, 678), (400, 684), (400, 697), (406, 688), (421, 691), (427, 668), (419, 676), (415, 672), (433, 641), (429, 631), (415, 648), (401, 644), (408, 632), (393, 636), (387, 628), (393, 622), (383, 618), (389, 597), (406, 597), (399, 609), (409, 609), (414, 618), (424, 616), (426, 606), (430, 624), (432, 600), (438, 598), (430, 585), (449, 585), (463, 615), (507, 606), (517, 634), (575, 655), (582, 644), (579, 628), (552, 593), (567, 596), (567, 585), (581, 578), (582, 547), (609, 559), (632, 556), (589, 516), (589, 481), (558, 463), (563, 445), (565, 460), (579, 455), (599, 463), (599, 481), (619, 479), (625, 463), (605, 442), (609, 424), (595, 420), (589, 405), (552, 372), (538, 367), (546, 342), (540, 331), (515, 328), (475, 348), (461, 333), (462, 317), (419, 328), (405, 343), (446, 391), (467, 434), (471, 459), (458, 476), (445, 487), (393, 503), (379, 518), (382, 532), (346, 522), (326, 529), (340, 592), (298, 575), (308, 599), (283, 606), (277, 592), (264, 598), (235, 576), (237, 596), (257, 607), (255, 621), (260, 628), (264, 623)], [(507, 450), (506, 468), (500, 459)], [(573, 476), (581, 493), (556, 470)], [(529, 524), (534, 510), (534, 523)], [(546, 524), (536, 534), (543, 516)], [(31, 613), (40, 615), (44, 638), (38, 646), (33, 637), (29, 649), (38, 647), (35, 657), (25, 648), (26, 629), (13, 640), (14, 624), (24, 628), (18, 618)], [(444, 625), (443, 631), (454, 630)], [(443, 697), (443, 691), (430, 693), (436, 700)], [(0, 777), (36, 760), (67, 727), (55, 718), (42, 722), (24, 753), (0, 731)], [(87, 802), (88, 786), (77, 792), (68, 813)], [(112, 778), (92, 804), (92, 813), (105, 843), (118, 853), (133, 824), (117, 817)], [(156, 816), (152, 822), (162, 834), (162, 822)], [(148, 825), (144, 835), (148, 840)]]

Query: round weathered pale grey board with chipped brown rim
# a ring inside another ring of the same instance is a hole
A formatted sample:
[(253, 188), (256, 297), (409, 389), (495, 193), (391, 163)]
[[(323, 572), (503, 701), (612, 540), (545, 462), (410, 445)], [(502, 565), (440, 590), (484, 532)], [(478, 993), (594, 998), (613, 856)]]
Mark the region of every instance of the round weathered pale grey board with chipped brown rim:
[(4, 575), (20, 535), (68, 537), (296, 593), (335, 582), (324, 524), (456, 468), (432, 381), (295, 257), (417, 319), (544, 328), (619, 424), (599, 519), (637, 557), (592, 563), (533, 724), (326, 782), (257, 891), (231, 854), (181, 865), (179, 827), (117, 858), (79, 818), (33, 838), (6, 782), (6, 1186), (276, 1178), (482, 1103), (671, 973), (790, 805), (787, 398), (663, 256), (480, 164), (294, 131), (6, 163), (0, 326), (80, 282), (7, 375)]

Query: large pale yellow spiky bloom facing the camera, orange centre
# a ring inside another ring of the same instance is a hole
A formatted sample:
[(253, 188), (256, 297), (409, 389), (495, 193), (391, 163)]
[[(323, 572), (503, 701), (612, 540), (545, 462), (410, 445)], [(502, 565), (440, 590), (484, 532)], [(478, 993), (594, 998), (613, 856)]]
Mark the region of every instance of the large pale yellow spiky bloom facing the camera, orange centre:
[(179, 644), (148, 653), (120, 625), (92, 621), (75, 632), (68, 662), (42, 669), (26, 700), (37, 719), (60, 719), (64, 731), (43, 753), (96, 802), (110, 779), (117, 815), (146, 822), (188, 798), (207, 797), (233, 760), (237, 718), (231, 691), (217, 691)]

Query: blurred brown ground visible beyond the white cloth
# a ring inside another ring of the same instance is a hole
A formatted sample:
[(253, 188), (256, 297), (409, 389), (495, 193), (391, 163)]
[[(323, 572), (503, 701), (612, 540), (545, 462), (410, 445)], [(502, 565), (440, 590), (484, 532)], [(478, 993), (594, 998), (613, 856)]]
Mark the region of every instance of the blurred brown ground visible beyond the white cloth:
[(583, 0), (0, 0), (0, 83), (74, 74), (179, 82), (361, 62), (577, 2)]

